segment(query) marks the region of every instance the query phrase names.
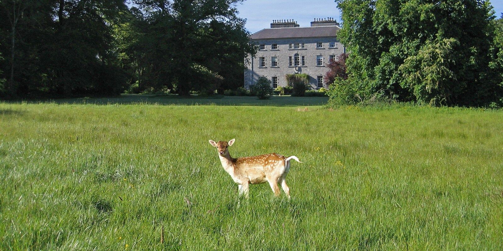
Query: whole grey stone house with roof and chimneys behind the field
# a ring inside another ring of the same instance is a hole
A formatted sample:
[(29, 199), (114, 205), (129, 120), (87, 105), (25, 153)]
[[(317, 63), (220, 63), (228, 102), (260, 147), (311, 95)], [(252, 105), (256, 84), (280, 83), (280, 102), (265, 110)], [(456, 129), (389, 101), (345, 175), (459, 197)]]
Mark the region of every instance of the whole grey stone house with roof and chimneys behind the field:
[(313, 89), (326, 88), (323, 78), (328, 60), (345, 52), (337, 40), (340, 29), (331, 18), (315, 19), (311, 27), (299, 27), (293, 20), (274, 20), (271, 29), (250, 36), (259, 51), (245, 59), (244, 87), (249, 88), (259, 77), (267, 77), (274, 88), (286, 86), (286, 74), (306, 73)]

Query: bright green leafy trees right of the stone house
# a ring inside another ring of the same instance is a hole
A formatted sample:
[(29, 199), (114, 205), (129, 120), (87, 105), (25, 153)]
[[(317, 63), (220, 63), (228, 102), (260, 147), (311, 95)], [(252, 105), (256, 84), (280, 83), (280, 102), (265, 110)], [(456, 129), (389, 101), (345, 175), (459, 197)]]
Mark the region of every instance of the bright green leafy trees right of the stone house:
[(330, 86), (332, 103), (503, 105), (503, 21), (489, 1), (336, 2), (350, 54), (348, 76)]

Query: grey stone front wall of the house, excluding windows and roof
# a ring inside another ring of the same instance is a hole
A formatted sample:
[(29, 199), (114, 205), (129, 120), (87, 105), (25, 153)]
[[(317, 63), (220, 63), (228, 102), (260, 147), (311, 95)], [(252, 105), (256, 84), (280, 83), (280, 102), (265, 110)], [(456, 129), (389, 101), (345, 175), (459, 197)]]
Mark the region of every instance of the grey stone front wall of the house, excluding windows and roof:
[[(280, 29), (299, 28), (277, 28), (277, 30)], [(288, 36), (288, 33), (286, 33), (286, 35), (284, 36)], [(333, 36), (324, 37), (259, 39), (254, 39), (252, 36), (251, 42), (256, 45), (264, 45), (265, 48), (263, 50), (259, 50), (254, 58), (248, 57), (245, 60), (245, 88), (249, 88), (249, 86), (252, 83), (255, 83), (259, 77), (266, 77), (271, 81), (273, 80), (273, 77), (276, 77), (278, 86), (287, 86), (289, 83), (287, 83), (286, 81), (286, 74), (305, 73), (309, 75), (309, 84), (311, 85), (311, 87), (313, 89), (317, 89), (318, 76), (322, 76), (324, 78), (325, 73), (328, 71), (326, 64), (328, 64), (330, 56), (332, 55), (337, 58), (339, 55), (345, 52), (345, 48), (337, 40), (336, 34), (333, 34)], [(321, 43), (321, 48), (318, 48), (318, 43)], [(334, 43), (334, 46), (330, 47), (330, 43)], [(277, 45), (277, 49), (272, 49), (273, 44)], [(302, 47), (302, 44), (304, 44), (304, 48), (295, 49), (295, 44), (299, 44), (299, 47)], [(290, 45), (292, 45), (292, 48), (290, 48)], [(300, 66), (298, 67), (295, 66), (295, 54), (299, 55)], [(322, 57), (323, 62), (321, 66), (317, 65), (317, 56)], [(273, 66), (273, 57), (277, 58), (277, 66)], [(292, 66), (290, 66), (289, 57), (292, 57)], [(302, 57), (304, 57), (304, 65), (302, 65)], [(260, 66), (260, 61), (262, 60), (262, 58), (265, 59), (264, 66)], [(325, 86), (325, 84), (323, 83), (323, 87), (326, 88), (327, 86)]]

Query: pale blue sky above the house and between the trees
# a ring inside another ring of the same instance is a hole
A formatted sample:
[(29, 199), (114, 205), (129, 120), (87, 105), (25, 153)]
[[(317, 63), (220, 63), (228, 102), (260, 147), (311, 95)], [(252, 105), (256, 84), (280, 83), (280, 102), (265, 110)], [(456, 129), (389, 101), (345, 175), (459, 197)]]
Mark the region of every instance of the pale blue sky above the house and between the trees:
[[(503, 12), (503, 0), (492, 0), (499, 18)], [(315, 18), (334, 18), (340, 21), (337, 4), (333, 0), (245, 0), (237, 5), (239, 17), (245, 18), (246, 29), (255, 33), (269, 28), (275, 19), (293, 19), (300, 27), (310, 26)]]

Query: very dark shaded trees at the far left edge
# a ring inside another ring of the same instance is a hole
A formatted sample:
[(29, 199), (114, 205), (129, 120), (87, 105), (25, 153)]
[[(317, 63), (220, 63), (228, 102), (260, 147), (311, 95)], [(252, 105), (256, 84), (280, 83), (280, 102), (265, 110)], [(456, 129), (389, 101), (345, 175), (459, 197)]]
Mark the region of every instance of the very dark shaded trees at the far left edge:
[(123, 0), (1, 1), (7, 96), (120, 92), (111, 29), (126, 10)]

